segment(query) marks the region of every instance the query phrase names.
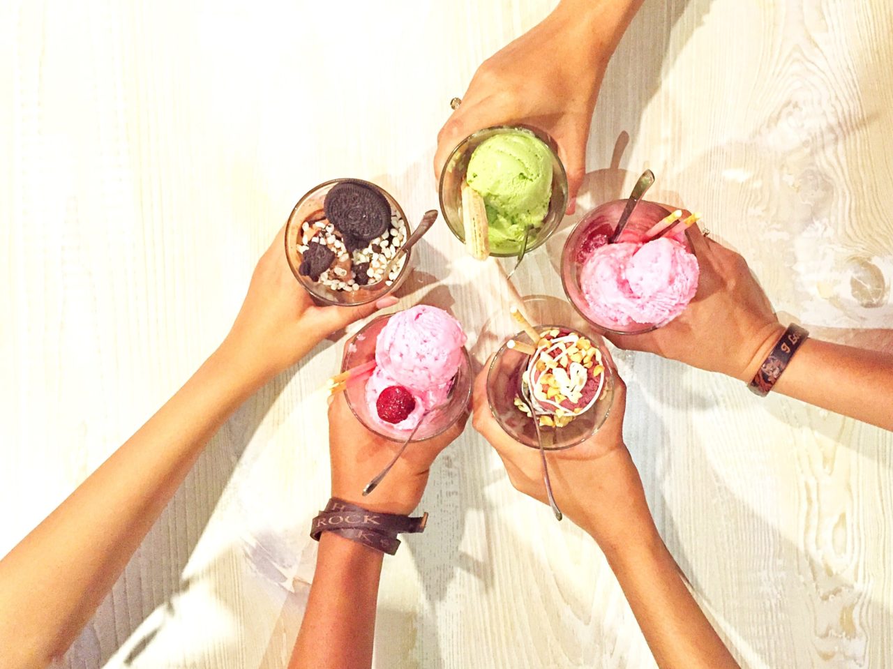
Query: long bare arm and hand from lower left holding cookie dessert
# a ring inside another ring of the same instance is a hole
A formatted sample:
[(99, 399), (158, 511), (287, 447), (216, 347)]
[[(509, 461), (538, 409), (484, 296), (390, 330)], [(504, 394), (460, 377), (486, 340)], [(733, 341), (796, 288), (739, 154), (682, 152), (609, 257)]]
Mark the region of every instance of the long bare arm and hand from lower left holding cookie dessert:
[(62, 656), (221, 424), (323, 336), (375, 308), (313, 306), (288, 269), (282, 234), (257, 264), (221, 347), (0, 560), (3, 667)]

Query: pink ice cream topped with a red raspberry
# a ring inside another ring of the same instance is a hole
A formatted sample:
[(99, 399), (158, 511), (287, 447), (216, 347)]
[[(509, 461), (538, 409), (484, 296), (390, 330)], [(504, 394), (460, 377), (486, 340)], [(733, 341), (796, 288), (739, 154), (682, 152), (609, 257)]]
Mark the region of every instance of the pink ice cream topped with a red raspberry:
[[(370, 414), (397, 430), (412, 430), (426, 411), (447, 399), (466, 339), (455, 318), (436, 306), (413, 306), (391, 316), (379, 333), (377, 365), (366, 382)], [(389, 393), (382, 404), (382, 393), (395, 386), (406, 389), (413, 401), (399, 397), (391, 402)]]

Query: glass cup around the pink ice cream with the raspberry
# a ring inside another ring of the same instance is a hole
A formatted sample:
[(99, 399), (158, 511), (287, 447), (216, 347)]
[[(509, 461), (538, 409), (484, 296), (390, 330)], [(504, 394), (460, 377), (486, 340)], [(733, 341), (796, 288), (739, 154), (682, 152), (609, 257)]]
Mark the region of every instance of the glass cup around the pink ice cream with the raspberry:
[[(366, 323), (362, 330), (347, 340), (344, 357), (341, 361), (342, 372), (375, 360), (375, 343), (379, 338), (380, 331), (384, 329), (392, 315), (387, 314), (373, 319)], [(452, 395), (449, 397), (447, 406), (435, 409), (421, 419), (421, 424), (413, 436), (413, 441), (423, 441), (437, 437), (438, 434), (446, 431), (453, 423), (458, 421), (467, 410), (468, 402), (472, 397), (472, 359), (464, 347), (462, 353), (462, 362), (459, 364), (459, 369), (455, 374)], [(353, 412), (359, 422), (363, 423), (366, 429), (391, 441), (404, 441), (409, 436), (411, 430), (396, 430), (390, 427), (388, 423), (380, 422), (372, 417), (371, 411), (375, 409), (374, 407), (370, 409), (369, 404), (366, 402), (366, 381), (369, 380), (370, 376), (371, 371), (360, 375), (356, 379), (347, 381), (344, 390), (347, 406), (350, 407), (351, 412)]]

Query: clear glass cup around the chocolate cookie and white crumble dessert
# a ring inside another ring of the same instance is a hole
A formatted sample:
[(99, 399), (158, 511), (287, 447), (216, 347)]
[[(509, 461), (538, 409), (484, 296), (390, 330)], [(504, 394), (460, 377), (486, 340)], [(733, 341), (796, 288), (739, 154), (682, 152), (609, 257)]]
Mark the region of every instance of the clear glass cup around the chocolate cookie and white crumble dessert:
[[(288, 266), (291, 268), (291, 272), (295, 275), (296, 280), (315, 300), (323, 305), (358, 306), (385, 297), (388, 293), (393, 292), (401, 283), (403, 283), (410, 272), (413, 249), (410, 248), (403, 254), (405, 256), (403, 266), (400, 267), (399, 273), (396, 275), (391, 285), (388, 286), (386, 283), (382, 283), (377, 289), (366, 289), (361, 287), (354, 291), (335, 290), (324, 285), (321, 281), (314, 281), (310, 277), (298, 272), (298, 267), (301, 265), (302, 260), (300, 247), (303, 243), (304, 230), (302, 229), (302, 226), (304, 222), (311, 214), (318, 212), (322, 208), (322, 202), (326, 194), (333, 187), (344, 181), (353, 181), (355, 183), (363, 184), (364, 186), (377, 190), (384, 196), (388, 201), (388, 205), (390, 205), (392, 216), (396, 214), (397, 219), (403, 222), (406, 230), (405, 238), (409, 237), (413, 231), (412, 226), (406, 220), (406, 215), (403, 209), (384, 188), (362, 179), (333, 179), (324, 181), (319, 186), (310, 189), (297, 201), (295, 208), (292, 209), (291, 214), (288, 216), (288, 223), (286, 223), (285, 255), (288, 259)], [(370, 280), (370, 285), (372, 282), (373, 281)]]

